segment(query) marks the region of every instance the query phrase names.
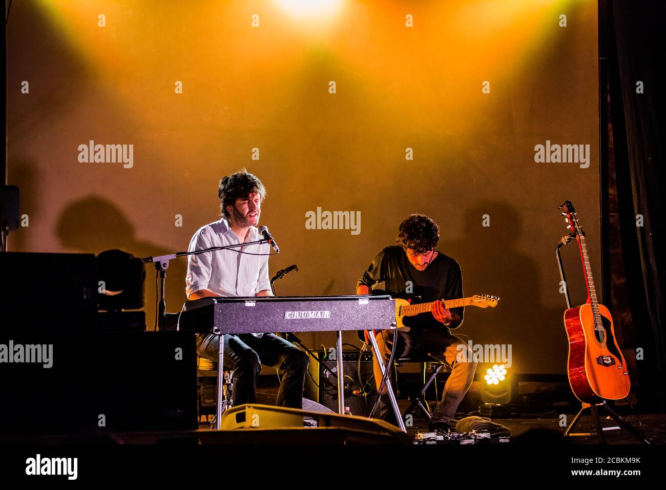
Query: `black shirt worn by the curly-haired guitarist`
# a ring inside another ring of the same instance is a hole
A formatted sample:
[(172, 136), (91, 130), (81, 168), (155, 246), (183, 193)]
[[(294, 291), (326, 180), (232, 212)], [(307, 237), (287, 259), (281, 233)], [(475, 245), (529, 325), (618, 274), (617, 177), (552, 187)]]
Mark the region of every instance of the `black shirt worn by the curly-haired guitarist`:
[[(429, 303), (437, 299), (458, 299), (463, 297), (462, 272), (455, 259), (437, 251), (437, 257), (426, 267), (425, 271), (418, 271), (410, 263), (407, 255), (399, 245), (390, 245), (378, 253), (372, 260), (370, 267), (356, 283), (356, 286), (366, 285), (372, 289), (380, 282), (386, 282), (389, 293), (404, 293), (406, 295), (420, 296), (414, 303)], [(408, 281), (411, 281), (411, 287)], [(411, 292), (406, 290), (410, 289)], [(458, 313), (462, 322), (464, 308), (452, 308), (452, 313)], [(421, 313), (415, 317), (407, 317), (404, 324), (408, 325), (414, 333), (428, 333), (448, 329), (443, 323), (435, 319), (431, 312)]]

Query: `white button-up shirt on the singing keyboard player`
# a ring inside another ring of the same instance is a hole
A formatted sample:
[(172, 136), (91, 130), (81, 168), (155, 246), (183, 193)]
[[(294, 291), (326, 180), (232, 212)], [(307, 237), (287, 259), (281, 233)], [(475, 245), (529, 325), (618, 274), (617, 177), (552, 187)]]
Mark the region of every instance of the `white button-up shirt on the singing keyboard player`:
[[(259, 231), (251, 226), (245, 241), (260, 239)], [(240, 243), (238, 236), (230, 228), (225, 217), (209, 225), (202, 226), (194, 233), (187, 251), (208, 249)], [(268, 255), (248, 255), (250, 253), (270, 253), (270, 245), (246, 245), (236, 249), (188, 255), (185, 294), (190, 297), (200, 289), (207, 289), (220, 296), (254, 296), (259, 291), (270, 289), (268, 279)]]

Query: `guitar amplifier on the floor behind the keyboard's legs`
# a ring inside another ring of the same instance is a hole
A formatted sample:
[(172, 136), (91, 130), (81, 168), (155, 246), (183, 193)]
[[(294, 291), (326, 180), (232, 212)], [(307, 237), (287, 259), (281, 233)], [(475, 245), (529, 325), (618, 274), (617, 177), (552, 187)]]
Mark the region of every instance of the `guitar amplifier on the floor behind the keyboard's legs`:
[[(306, 397), (338, 411), (338, 361), (335, 351), (318, 353), (319, 362), (310, 359), (305, 379)], [(360, 362), (359, 362), (360, 357)], [(330, 372), (324, 368), (328, 367)], [(344, 405), (352, 415), (367, 417), (377, 400), (377, 387), (372, 371), (372, 352), (342, 351), (344, 369)]]

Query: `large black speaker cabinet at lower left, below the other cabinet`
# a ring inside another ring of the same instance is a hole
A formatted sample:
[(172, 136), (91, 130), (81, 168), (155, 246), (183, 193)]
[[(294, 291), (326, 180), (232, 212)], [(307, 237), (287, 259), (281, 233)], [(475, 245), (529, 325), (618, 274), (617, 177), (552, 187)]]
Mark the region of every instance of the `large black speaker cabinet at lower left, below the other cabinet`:
[[(19, 345), (31, 362), (17, 357)], [(25, 333), (0, 341), (10, 348), (13, 362), (0, 364), (0, 440), (198, 427), (193, 332)]]

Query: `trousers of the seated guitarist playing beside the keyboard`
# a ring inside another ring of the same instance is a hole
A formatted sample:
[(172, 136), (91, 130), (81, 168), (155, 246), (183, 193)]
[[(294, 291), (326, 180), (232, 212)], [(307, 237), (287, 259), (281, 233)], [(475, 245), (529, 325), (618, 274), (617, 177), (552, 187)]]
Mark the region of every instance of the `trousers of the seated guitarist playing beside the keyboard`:
[[(391, 348), (393, 342), (393, 332), (384, 331), (377, 334), (377, 345), (380, 353), (384, 357), (384, 365), (391, 355)], [(442, 395), (442, 402), (435, 409), (432, 414), (433, 422), (448, 422), (454, 415), (456, 409), (464, 398), (472, 381), (474, 381), (474, 373), (476, 372), (476, 357), (470, 347), (454, 335), (446, 333), (428, 333), (424, 332), (403, 332), (398, 330), (398, 341), (396, 345), (395, 359), (400, 357), (412, 357), (415, 359), (427, 359), (426, 356), (430, 355), (438, 361), (443, 361), (452, 367), (451, 375), (446, 380), (444, 385), (444, 393)], [(394, 369), (391, 367), (389, 370), (389, 379), (392, 386), (396, 387), (394, 379)], [(382, 371), (379, 364), (374, 359), (374, 375), (379, 389), (382, 381)], [(388, 400), (388, 393), (386, 386), (382, 390), (379, 405), (379, 417), (395, 423), (395, 415)]]

